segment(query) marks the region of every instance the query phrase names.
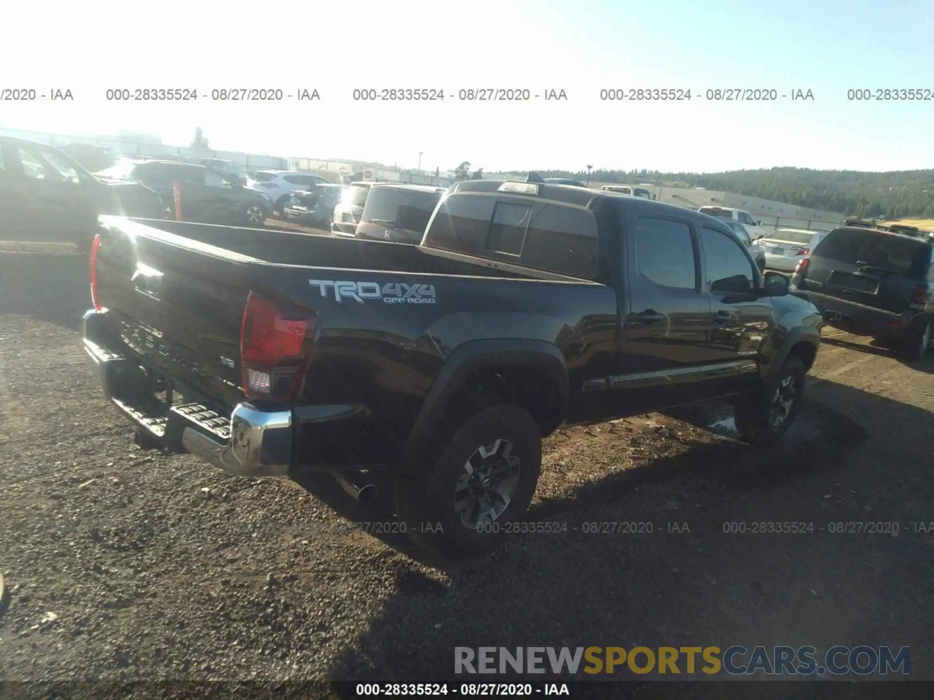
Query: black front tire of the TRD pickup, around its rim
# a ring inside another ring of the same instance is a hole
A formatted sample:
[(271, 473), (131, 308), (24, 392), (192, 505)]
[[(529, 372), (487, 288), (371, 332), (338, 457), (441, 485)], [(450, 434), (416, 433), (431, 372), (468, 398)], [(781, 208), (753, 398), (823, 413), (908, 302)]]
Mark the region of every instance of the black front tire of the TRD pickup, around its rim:
[[(800, 409), (806, 374), (800, 357), (789, 356), (779, 371), (762, 381), (748, 397), (737, 402), (736, 429), (744, 441), (767, 444), (785, 435)], [(784, 418), (776, 425), (772, 409), (775, 407), (777, 392), (781, 392), (784, 398), (789, 381), (793, 401), (785, 411)]]

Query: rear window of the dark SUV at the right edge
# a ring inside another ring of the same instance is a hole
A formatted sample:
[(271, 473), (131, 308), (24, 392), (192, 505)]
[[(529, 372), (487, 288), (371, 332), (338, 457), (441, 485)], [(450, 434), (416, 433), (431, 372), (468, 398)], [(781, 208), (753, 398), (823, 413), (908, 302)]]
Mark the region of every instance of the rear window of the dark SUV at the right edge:
[(930, 245), (878, 231), (830, 231), (814, 251), (820, 258), (851, 265), (870, 265), (886, 273), (924, 279)]

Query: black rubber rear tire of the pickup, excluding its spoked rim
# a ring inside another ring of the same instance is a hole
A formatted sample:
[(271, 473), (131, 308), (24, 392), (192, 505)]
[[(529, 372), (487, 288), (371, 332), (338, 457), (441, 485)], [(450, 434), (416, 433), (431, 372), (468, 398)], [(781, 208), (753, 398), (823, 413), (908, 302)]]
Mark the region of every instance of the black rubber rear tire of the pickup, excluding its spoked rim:
[[(518, 457), (515, 492), (495, 521), (472, 529), (455, 511), (455, 487), (472, 455), (497, 441), (511, 443), (510, 455)], [(525, 409), (497, 404), (475, 413), (438, 447), (396, 477), (396, 515), (422, 547), (456, 558), (486, 556), (502, 546), (529, 509), (542, 467), (539, 427)]]

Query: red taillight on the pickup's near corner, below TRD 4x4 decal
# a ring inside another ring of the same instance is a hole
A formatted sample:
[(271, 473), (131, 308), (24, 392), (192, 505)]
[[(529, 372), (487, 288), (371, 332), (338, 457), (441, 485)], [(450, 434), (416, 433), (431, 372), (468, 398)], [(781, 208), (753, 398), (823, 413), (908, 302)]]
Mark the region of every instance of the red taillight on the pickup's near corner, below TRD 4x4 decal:
[(315, 341), (315, 315), (250, 292), (240, 327), (248, 399), (290, 399)]

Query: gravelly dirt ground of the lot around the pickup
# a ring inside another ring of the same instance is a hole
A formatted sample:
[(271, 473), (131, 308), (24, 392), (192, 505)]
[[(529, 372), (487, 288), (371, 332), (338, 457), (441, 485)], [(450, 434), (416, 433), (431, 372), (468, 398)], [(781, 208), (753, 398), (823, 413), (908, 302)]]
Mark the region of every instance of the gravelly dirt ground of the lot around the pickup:
[[(49, 252), (0, 253), (0, 679), (454, 679), (461, 645), (860, 643), (910, 645), (932, 677), (934, 531), (913, 524), (934, 522), (934, 358), (828, 332), (771, 450), (700, 427), (715, 407), (561, 430), (530, 516), (561, 531), (453, 565), (353, 525), (386, 521), (381, 499), (134, 446), (80, 351), (85, 260)], [(899, 534), (829, 531), (864, 521)]]

